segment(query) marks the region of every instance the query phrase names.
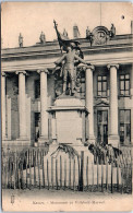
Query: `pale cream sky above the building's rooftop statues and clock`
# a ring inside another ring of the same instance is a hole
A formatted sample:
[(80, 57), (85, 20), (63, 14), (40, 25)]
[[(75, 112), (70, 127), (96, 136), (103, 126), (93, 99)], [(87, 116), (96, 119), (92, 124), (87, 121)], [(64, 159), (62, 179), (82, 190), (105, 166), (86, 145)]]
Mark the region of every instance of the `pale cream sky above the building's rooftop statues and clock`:
[(102, 25), (110, 29), (114, 24), (117, 35), (131, 33), (133, 4), (131, 2), (3, 2), (1, 12), (2, 48), (19, 46), (22, 33), (24, 47), (39, 42), (41, 31), (46, 40), (57, 39), (53, 20), (62, 33), (73, 37), (73, 25), (78, 26), (84, 38), (86, 27), (93, 31)]

